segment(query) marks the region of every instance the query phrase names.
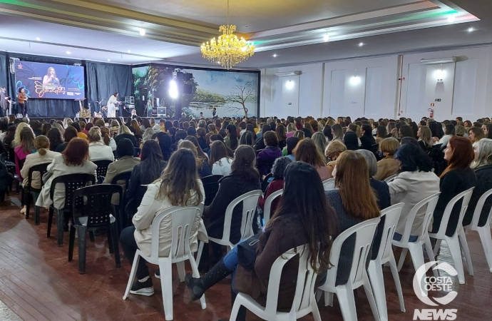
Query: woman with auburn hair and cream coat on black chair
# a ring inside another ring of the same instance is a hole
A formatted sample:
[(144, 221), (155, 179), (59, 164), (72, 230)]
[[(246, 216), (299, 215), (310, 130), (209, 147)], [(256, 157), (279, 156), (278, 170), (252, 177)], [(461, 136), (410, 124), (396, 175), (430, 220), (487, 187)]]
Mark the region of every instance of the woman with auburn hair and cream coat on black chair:
[[(74, 128), (75, 129), (75, 128)], [(53, 202), (49, 197), (51, 182), (54, 178), (69, 174), (92, 174), (96, 178), (98, 166), (89, 161), (89, 143), (83, 138), (72, 138), (61, 155), (55, 156), (53, 162), (48, 165), (48, 180), (41, 189), (36, 205), (41, 208), (54, 207), (60, 210), (65, 205), (65, 185), (57, 184), (53, 193)]]

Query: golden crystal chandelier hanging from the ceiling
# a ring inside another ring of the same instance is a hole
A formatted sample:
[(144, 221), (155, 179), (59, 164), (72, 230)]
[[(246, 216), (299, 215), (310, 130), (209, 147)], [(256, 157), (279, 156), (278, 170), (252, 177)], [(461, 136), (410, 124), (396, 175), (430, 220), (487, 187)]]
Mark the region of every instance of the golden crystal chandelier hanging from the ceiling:
[(207, 41), (206, 44), (202, 44), (203, 58), (230, 69), (255, 54), (255, 45), (242, 37), (237, 38), (234, 34), (236, 26), (229, 24), (229, 0), (227, 0), (227, 25), (220, 26), (219, 31), (222, 32), (222, 36), (217, 40), (213, 38), (210, 43)]

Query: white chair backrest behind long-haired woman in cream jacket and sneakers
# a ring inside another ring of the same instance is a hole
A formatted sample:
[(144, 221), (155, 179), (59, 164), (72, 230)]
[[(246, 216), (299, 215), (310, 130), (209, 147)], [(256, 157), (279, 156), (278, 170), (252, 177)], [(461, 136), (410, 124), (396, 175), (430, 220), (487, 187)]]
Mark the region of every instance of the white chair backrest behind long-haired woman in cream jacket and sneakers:
[(197, 214), (202, 213), (203, 206), (173, 206), (163, 213), (155, 216), (152, 221), (152, 244), (150, 245), (150, 257), (159, 257), (160, 223), (168, 216), (173, 217), (173, 236), (170, 256), (173, 260), (180, 260), (191, 253), (190, 233)]

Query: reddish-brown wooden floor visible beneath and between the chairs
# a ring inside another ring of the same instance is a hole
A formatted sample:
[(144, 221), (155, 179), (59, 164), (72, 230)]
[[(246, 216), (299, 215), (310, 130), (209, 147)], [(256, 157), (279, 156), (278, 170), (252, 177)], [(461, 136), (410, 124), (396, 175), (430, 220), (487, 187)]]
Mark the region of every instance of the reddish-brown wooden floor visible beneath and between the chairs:
[[(16, 195), (15, 195), (16, 196)], [(17, 196), (16, 196), (17, 197)], [(19, 201), (6, 198), (0, 204), (0, 320), (164, 320), (160, 283), (154, 279), (155, 295), (130, 295), (123, 292), (130, 272), (130, 263), (122, 254), (122, 267), (115, 268), (106, 238), (96, 237), (88, 242), (86, 275), (78, 274), (78, 253), (68, 263), (68, 233), (65, 246), (58, 248), (56, 239), (46, 238), (47, 212), (41, 213), (41, 225), (25, 220), (19, 213)], [(53, 226), (52, 235), (56, 235)], [(456, 320), (490, 320), (492, 311), (492, 273), (489, 272), (478, 235), (468, 234), (475, 275), (466, 271), (466, 284), (448, 309), (458, 309)], [(439, 261), (451, 262), (446, 247)], [(150, 267), (155, 270), (155, 266)], [(398, 297), (391, 272), (384, 268), (389, 320), (413, 320), (415, 309), (432, 308), (424, 305), (414, 294), (413, 267), (404, 267), (400, 280), (404, 289), (406, 313), (399, 310)], [(207, 309), (191, 302), (184, 283), (173, 271), (174, 320), (219, 320), (230, 314), (230, 279), (210, 288), (206, 293)], [(444, 296), (436, 293), (434, 296)], [(374, 320), (364, 291), (357, 297), (359, 320)], [(334, 307), (319, 302), (322, 320), (342, 320), (335, 299)], [(260, 320), (249, 314), (247, 320)], [(302, 320), (313, 320), (309, 315)]]

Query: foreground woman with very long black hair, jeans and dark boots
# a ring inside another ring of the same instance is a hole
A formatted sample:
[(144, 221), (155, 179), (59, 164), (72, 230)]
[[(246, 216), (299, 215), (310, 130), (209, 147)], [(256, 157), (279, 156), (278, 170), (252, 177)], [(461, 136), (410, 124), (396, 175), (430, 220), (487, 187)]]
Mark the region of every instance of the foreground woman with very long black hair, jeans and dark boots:
[[(243, 282), (251, 284), (252, 292), (258, 293), (253, 298), (265, 306), (270, 270), (275, 260), (287, 250), (305, 244), (310, 253), (308, 262), (315, 272), (330, 267), (329, 251), (336, 225), (335, 213), (324, 197), (322, 181), (316, 170), (306, 163), (289, 164), (285, 170), (284, 197), (257, 244), (255, 270), (249, 277), (244, 273), (244, 268), (238, 265), (236, 247), (203, 277), (197, 279), (186, 275), (186, 285), (192, 293), (192, 300), (198, 300), (208, 288), (237, 270), (235, 277), (246, 277)], [(277, 306), (279, 310), (290, 310), (292, 307), (298, 268), (298, 260), (292, 260), (282, 270)], [(232, 287), (234, 283), (235, 278)], [(236, 292), (231, 295), (233, 303)], [(245, 309), (241, 309), (237, 320), (245, 320), (245, 313)]]

